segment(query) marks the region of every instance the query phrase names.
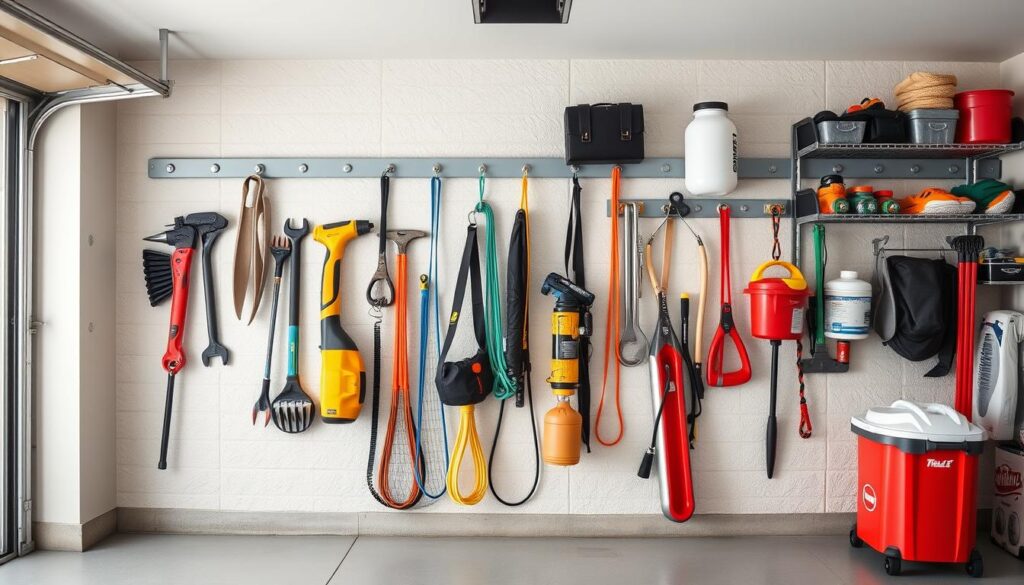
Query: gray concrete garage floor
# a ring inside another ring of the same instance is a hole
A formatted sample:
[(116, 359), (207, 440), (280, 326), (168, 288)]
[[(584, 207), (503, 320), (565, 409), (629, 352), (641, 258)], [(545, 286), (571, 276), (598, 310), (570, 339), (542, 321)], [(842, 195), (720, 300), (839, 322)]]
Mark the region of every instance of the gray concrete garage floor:
[[(984, 583), (1024, 561), (979, 539)], [(908, 582), (972, 583), (963, 567), (904, 563)], [(869, 585), (882, 555), (845, 537), (461, 539), (117, 535), (86, 553), (35, 552), (0, 585)]]

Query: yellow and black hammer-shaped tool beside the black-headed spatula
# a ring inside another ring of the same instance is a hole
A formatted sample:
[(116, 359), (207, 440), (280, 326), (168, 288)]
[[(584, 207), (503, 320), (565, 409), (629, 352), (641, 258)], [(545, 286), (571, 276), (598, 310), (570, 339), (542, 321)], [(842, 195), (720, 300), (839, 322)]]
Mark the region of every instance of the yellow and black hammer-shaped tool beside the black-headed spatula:
[(353, 422), (366, 395), (362, 357), (341, 327), (341, 258), (350, 240), (373, 228), (373, 223), (359, 219), (313, 229), (313, 240), (327, 248), (321, 283), (321, 419), (330, 424)]

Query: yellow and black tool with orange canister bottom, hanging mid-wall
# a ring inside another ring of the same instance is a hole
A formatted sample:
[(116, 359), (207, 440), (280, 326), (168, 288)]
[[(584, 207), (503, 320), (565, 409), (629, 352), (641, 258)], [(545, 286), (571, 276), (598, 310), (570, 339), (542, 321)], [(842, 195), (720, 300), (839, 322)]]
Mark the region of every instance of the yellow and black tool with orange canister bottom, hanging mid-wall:
[(594, 293), (557, 273), (544, 279), (541, 293), (555, 297), (548, 383), (557, 401), (555, 408), (544, 415), (542, 453), (545, 463), (550, 465), (575, 465), (580, 462), (583, 417), (572, 410), (569, 399), (580, 388), (580, 339), (591, 334), (590, 306), (594, 304)]

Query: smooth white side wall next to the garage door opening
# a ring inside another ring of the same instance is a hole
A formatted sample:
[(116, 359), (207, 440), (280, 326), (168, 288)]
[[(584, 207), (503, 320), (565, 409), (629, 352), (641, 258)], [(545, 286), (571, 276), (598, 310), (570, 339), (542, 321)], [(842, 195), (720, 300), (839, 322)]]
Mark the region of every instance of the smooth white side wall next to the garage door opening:
[(83, 524), (116, 506), (116, 115), (113, 103), (68, 108), (36, 149), (41, 523)]

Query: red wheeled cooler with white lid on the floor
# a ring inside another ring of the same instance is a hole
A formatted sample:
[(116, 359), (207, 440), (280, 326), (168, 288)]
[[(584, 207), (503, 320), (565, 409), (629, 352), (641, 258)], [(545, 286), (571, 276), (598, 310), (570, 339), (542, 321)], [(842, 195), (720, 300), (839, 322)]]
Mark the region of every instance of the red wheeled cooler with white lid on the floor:
[(850, 544), (902, 560), (963, 562), (981, 577), (974, 548), (978, 455), (985, 431), (955, 410), (896, 401), (851, 419), (857, 438), (857, 524)]

